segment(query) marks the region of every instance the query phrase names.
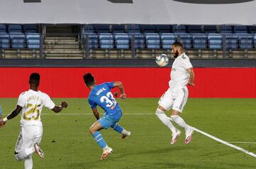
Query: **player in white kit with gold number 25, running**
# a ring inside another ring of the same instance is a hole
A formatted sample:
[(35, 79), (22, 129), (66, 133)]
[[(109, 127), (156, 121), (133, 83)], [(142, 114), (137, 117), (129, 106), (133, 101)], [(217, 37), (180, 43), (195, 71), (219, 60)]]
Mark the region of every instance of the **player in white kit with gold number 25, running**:
[(43, 135), (41, 122), (43, 107), (48, 107), (55, 113), (68, 107), (66, 102), (61, 102), (60, 106), (55, 106), (48, 94), (38, 90), (39, 83), (40, 75), (32, 73), (29, 77), (30, 89), (20, 94), (16, 109), (0, 121), (0, 126), (4, 126), (6, 121), (13, 119), (21, 112), (21, 132), (15, 147), (15, 157), (18, 161), (25, 160), (25, 169), (33, 168), (32, 154), (34, 152), (44, 158), (43, 151), (39, 147)]

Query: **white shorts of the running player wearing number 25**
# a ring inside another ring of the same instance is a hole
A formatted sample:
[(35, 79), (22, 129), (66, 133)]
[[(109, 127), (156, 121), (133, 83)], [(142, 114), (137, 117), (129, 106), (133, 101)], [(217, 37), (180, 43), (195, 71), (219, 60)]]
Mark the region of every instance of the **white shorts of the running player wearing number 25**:
[(32, 147), (35, 143), (40, 143), (42, 136), (43, 126), (22, 125), (15, 147), (16, 153), (24, 148)]

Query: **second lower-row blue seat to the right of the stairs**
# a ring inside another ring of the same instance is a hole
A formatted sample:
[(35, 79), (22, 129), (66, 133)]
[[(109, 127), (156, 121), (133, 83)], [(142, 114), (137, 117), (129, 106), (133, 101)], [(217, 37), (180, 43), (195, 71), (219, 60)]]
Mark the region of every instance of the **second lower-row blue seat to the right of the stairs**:
[(100, 48), (112, 49), (114, 48), (114, 38), (111, 33), (99, 33)]

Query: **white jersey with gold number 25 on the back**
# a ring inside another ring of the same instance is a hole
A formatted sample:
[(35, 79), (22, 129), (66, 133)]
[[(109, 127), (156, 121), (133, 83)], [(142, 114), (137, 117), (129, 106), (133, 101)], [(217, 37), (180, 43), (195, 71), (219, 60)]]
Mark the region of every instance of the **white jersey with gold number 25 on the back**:
[(42, 126), (41, 111), (43, 107), (53, 109), (55, 104), (48, 94), (36, 92), (32, 89), (23, 92), (18, 97), (18, 106), (23, 107), (21, 110), (21, 125)]

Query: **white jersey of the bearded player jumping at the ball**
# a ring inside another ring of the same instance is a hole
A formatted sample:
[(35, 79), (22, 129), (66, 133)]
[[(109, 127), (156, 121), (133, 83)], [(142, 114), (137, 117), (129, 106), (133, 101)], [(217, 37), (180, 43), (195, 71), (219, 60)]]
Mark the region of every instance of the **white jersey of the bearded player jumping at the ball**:
[(188, 68), (193, 67), (188, 56), (183, 53), (178, 56), (171, 67), (171, 80), (169, 87), (184, 87), (188, 84), (189, 74)]

